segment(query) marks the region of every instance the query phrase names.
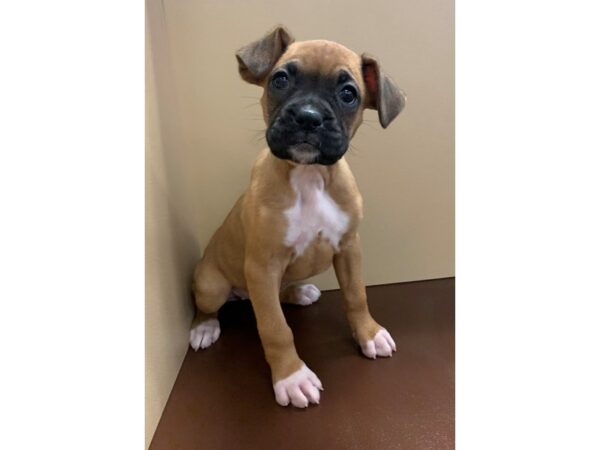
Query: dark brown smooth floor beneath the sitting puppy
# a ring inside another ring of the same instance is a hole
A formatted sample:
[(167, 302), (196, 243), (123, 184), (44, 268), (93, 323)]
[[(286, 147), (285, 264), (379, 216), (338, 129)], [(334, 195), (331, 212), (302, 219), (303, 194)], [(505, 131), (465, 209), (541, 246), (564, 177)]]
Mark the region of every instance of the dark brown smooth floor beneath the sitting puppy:
[(368, 288), (371, 313), (394, 337), (391, 359), (362, 357), (339, 291), (284, 306), (300, 357), (320, 377), (321, 404), (275, 403), (249, 302), (227, 303), (222, 334), (188, 351), (150, 448), (454, 448), (454, 279)]

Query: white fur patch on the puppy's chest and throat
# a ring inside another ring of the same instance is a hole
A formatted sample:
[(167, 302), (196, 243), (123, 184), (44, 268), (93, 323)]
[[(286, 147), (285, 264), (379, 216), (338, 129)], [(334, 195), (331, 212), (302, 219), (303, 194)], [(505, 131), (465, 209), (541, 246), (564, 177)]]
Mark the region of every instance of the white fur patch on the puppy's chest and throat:
[(290, 184), (296, 192), (296, 202), (284, 213), (288, 219), (285, 245), (293, 247), (296, 256), (300, 256), (320, 234), (337, 250), (350, 218), (325, 191), (325, 182), (317, 168), (294, 168)]

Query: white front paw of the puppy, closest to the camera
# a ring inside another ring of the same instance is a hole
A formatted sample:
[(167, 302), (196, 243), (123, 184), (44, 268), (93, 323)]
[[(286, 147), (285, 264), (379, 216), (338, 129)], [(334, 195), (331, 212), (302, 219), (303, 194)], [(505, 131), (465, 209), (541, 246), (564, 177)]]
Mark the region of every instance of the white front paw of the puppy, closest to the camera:
[(292, 405), (306, 408), (309, 403), (319, 404), (320, 393), (323, 390), (321, 380), (304, 364), (290, 376), (279, 380), (273, 385), (275, 399), (281, 406)]

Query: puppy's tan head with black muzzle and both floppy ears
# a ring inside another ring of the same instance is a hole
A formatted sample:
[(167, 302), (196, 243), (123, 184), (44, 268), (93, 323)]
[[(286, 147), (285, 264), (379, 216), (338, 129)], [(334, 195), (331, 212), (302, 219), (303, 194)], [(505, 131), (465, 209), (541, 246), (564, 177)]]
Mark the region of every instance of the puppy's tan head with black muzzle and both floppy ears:
[(294, 42), (277, 27), (236, 53), (241, 77), (264, 88), (267, 142), (281, 159), (330, 165), (346, 150), (365, 108), (386, 128), (406, 97), (375, 58), (331, 41)]

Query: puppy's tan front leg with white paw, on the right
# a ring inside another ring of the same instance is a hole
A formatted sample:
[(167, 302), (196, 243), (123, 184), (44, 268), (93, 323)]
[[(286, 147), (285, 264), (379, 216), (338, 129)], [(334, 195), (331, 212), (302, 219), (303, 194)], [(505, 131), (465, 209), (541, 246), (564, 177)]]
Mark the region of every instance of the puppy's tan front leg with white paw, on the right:
[(369, 358), (392, 356), (396, 344), (390, 333), (369, 312), (367, 292), (362, 278), (362, 252), (358, 233), (347, 236), (333, 259), (333, 266), (344, 294), (346, 315), (354, 339)]

